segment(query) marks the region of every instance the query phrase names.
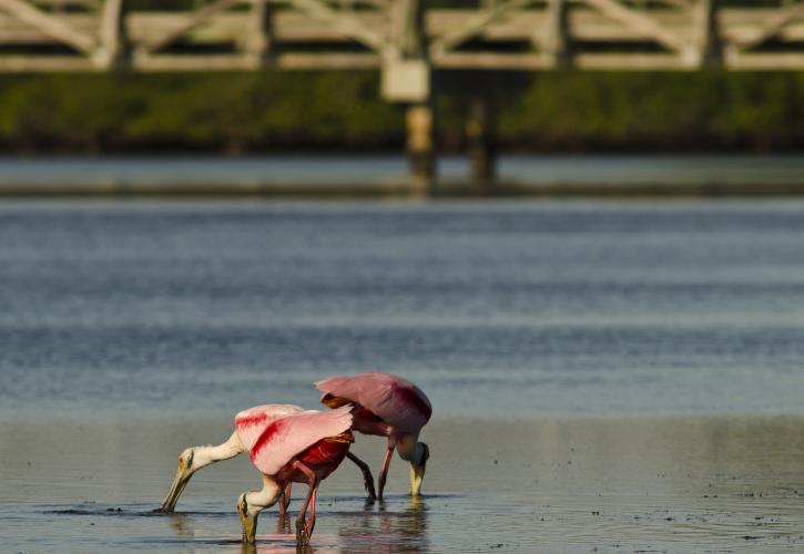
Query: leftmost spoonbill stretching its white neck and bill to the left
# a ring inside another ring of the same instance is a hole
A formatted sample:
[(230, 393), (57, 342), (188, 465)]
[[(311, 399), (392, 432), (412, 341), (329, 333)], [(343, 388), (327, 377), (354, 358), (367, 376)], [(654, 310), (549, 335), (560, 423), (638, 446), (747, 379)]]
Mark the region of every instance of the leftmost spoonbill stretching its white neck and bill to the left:
[[(179, 501), (179, 496), (190, 482), (190, 478), (202, 468), (211, 465), (222, 460), (228, 460), (243, 452), (251, 452), (257, 439), (268, 428), (271, 423), (277, 419), (287, 416), (294, 416), (305, 411), (304, 408), (293, 404), (263, 404), (255, 406), (238, 412), (234, 418), (234, 432), (223, 444), (216, 447), (190, 447), (185, 449), (179, 456), (179, 469), (173, 480), (173, 485), (162, 502), (159, 511), (173, 512)], [(352, 452), (346, 454), (363, 470), (364, 483), (366, 491), (374, 496), (374, 478), (372, 471), (365, 462), (354, 455)], [(291, 503), (291, 485), (288, 483), (285, 490), (285, 497), (279, 503), (279, 515), (284, 515), (287, 505)]]

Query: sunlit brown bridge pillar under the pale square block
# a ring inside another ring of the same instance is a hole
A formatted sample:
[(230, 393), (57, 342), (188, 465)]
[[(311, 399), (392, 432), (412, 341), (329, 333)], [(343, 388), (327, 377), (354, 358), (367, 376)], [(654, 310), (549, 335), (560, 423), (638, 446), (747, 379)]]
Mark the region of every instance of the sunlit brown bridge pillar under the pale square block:
[(410, 177), (416, 194), (426, 196), (436, 177), (436, 141), (432, 104), (409, 104), (407, 107), (407, 152)]

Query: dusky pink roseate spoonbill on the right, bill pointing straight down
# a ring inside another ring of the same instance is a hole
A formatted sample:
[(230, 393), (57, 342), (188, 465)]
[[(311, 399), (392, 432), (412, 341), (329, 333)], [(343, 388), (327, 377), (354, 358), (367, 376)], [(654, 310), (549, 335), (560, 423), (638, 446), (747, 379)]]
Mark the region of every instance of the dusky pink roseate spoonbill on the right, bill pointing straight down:
[(329, 408), (356, 404), (352, 424), (354, 431), (388, 438), (388, 450), (377, 478), (379, 499), (383, 499), (395, 449), (399, 458), (410, 462), (410, 495), (417, 496), (430, 458), (429, 447), (417, 442), (419, 431), (432, 413), (427, 396), (401, 377), (377, 371), (330, 377), (313, 384), (324, 392), (320, 402)]

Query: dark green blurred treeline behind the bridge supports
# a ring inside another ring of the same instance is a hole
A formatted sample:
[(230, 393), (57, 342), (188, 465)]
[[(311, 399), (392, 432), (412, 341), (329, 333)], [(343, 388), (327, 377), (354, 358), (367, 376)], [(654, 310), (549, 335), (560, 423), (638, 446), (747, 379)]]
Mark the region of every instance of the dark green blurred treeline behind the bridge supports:
[[(468, 78), (466, 89), (484, 84)], [(6, 153), (378, 152), (405, 143), (376, 72), (0, 76)], [(804, 150), (804, 73), (566, 72), (496, 79), (509, 152)], [(467, 99), (438, 96), (464, 145)]]

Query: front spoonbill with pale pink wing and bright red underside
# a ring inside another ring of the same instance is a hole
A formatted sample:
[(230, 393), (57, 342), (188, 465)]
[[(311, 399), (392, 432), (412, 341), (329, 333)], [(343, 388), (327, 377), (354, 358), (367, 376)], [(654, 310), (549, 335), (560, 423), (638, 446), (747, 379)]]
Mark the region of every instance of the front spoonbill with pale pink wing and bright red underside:
[[(263, 431), (251, 449), (252, 463), (263, 474), (263, 489), (237, 499), (244, 543), (254, 543), (259, 512), (274, 505), (293, 482), (308, 486), (296, 519), (296, 542), (299, 546), (309, 543), (318, 485), (337, 469), (355, 441), (352, 410), (352, 406), (328, 412), (305, 410), (277, 419)], [(309, 521), (305, 521), (308, 506)]]

